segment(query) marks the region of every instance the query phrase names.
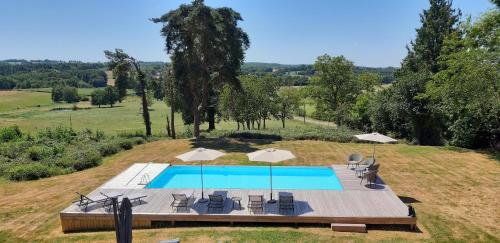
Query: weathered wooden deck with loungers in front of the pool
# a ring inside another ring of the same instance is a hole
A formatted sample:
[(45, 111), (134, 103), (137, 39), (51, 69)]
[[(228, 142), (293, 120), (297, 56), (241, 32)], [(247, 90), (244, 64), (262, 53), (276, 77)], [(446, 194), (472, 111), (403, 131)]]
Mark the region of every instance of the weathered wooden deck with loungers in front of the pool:
[[(337, 190), (280, 190), (279, 193), (293, 194), (295, 211), (278, 212), (278, 204), (266, 204), (264, 212), (249, 212), (246, 205), (248, 195), (264, 195), (269, 199), (269, 190), (217, 189), (205, 190), (208, 194), (224, 195), (226, 200), (222, 211), (208, 211), (207, 203), (199, 203), (200, 190), (172, 189), (109, 189), (97, 188), (89, 197), (104, 193), (122, 193), (124, 195), (147, 195), (145, 203), (134, 203), (134, 227), (149, 228), (151, 222), (166, 221), (210, 221), (210, 222), (270, 222), (270, 223), (346, 223), (346, 224), (407, 224), (415, 225), (416, 218), (408, 217), (407, 206), (379, 178), (372, 187), (360, 185), (360, 179), (345, 166), (334, 165), (337, 177), (343, 186)], [(193, 194), (189, 211), (170, 208), (172, 193)], [(233, 209), (232, 197), (241, 197), (242, 208)], [(112, 229), (112, 213), (102, 206), (89, 206), (83, 212), (76, 205), (71, 205), (60, 213), (64, 232)]]

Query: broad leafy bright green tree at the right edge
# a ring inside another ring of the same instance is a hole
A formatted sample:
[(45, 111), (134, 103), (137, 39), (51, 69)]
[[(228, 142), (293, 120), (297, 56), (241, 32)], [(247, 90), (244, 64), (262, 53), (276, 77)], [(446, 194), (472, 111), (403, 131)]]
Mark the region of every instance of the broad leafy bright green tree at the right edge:
[(450, 36), (427, 94), (445, 118), (447, 138), (456, 146), (500, 149), (500, 10)]

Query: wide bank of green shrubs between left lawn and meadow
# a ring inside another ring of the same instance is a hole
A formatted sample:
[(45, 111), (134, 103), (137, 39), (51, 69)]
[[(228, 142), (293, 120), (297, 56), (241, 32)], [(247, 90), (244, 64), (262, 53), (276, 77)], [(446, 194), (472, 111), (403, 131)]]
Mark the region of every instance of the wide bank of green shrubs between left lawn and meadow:
[[(8, 131), (7, 131), (8, 130)], [(36, 136), (21, 136), (17, 127), (2, 129), (8, 142), (0, 142), (0, 176), (34, 180), (97, 166), (103, 156), (149, 141), (142, 137), (109, 138), (103, 132), (71, 128), (45, 129)], [(17, 135), (11, 135), (17, 134)], [(11, 139), (18, 136), (18, 139)], [(149, 139), (149, 138), (148, 138)]]

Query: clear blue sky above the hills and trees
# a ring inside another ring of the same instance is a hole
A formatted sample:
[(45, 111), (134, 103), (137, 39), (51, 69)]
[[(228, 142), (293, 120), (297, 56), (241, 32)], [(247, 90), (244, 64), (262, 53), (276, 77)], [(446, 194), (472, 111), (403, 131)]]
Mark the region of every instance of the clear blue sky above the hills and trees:
[[(160, 24), (149, 21), (182, 0), (1, 0), (0, 60), (105, 61), (124, 49), (142, 61), (169, 61)], [(245, 61), (311, 64), (323, 54), (355, 65), (400, 66), (427, 0), (206, 0), (231, 7), (250, 37)], [(488, 0), (454, 0), (473, 19)]]

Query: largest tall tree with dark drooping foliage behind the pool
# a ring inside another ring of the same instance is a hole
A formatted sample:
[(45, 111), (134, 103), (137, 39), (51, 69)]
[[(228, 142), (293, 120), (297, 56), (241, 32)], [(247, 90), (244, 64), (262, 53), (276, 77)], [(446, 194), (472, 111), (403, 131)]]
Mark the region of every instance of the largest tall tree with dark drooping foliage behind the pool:
[(241, 15), (195, 0), (152, 20), (163, 24), (166, 51), (171, 55), (183, 105), (192, 114), (198, 138), (211, 92), (224, 83), (239, 85), (237, 75), (250, 45), (247, 34), (238, 27)]

